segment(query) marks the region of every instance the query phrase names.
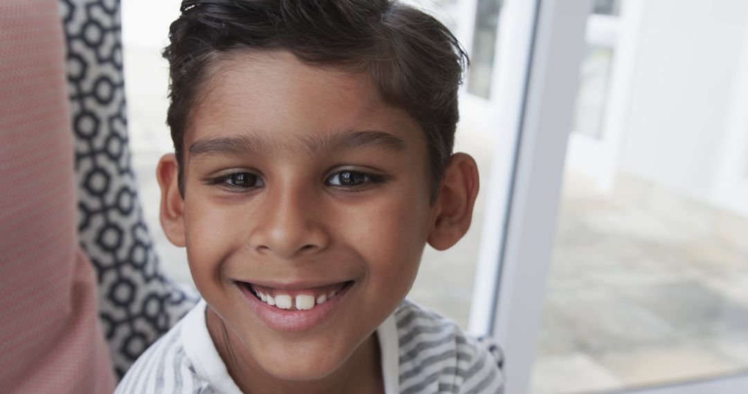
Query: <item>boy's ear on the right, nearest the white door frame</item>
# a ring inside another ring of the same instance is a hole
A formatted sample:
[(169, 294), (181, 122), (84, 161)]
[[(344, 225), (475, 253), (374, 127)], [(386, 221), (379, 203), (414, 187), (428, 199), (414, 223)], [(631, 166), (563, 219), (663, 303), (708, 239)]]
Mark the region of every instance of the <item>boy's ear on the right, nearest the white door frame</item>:
[(465, 153), (453, 154), (437, 196), (429, 245), (444, 250), (468, 232), (478, 187), (478, 165), (473, 157)]

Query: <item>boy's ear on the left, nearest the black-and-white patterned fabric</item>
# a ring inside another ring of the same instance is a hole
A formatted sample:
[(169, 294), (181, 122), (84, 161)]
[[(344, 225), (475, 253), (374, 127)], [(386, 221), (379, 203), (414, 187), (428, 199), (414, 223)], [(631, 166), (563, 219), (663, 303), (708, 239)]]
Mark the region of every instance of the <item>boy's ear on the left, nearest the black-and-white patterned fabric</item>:
[(179, 165), (173, 153), (161, 157), (156, 168), (156, 178), (161, 187), (161, 227), (171, 243), (185, 246), (185, 203), (179, 187)]

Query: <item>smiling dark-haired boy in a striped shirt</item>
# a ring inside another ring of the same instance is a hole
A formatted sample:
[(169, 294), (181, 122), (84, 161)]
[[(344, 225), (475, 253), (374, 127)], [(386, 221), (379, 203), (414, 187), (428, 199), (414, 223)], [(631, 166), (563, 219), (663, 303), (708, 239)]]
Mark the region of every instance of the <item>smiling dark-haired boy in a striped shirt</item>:
[(470, 226), (451, 154), (465, 53), (389, 0), (185, 0), (161, 222), (204, 301), (120, 393), (499, 393), (496, 360), (403, 301)]

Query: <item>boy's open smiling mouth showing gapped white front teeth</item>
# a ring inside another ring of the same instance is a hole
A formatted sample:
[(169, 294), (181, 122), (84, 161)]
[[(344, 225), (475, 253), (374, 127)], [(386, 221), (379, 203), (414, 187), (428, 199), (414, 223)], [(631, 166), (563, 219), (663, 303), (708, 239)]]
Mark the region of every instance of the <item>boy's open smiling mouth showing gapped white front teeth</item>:
[(248, 289), (260, 301), (282, 310), (311, 310), (316, 305), (324, 304), (332, 298), (335, 298), (340, 293), (343, 293), (351, 287), (353, 283), (354, 281), (345, 281), (322, 287), (310, 287), (299, 290), (281, 290), (273, 287), (251, 284), (249, 282), (236, 282), (239, 286)]

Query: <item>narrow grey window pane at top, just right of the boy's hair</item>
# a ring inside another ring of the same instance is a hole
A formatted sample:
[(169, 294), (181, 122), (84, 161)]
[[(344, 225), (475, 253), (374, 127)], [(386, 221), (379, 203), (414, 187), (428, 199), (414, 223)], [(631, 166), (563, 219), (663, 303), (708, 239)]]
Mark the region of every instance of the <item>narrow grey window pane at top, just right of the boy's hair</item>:
[(482, 98), (491, 96), (491, 78), (495, 71), (494, 54), (502, 3), (503, 0), (478, 0), (476, 6), (468, 92)]

